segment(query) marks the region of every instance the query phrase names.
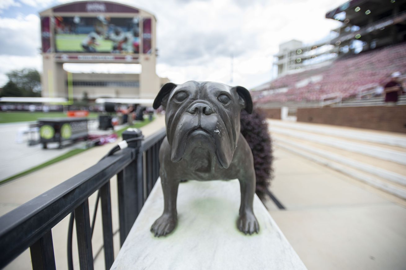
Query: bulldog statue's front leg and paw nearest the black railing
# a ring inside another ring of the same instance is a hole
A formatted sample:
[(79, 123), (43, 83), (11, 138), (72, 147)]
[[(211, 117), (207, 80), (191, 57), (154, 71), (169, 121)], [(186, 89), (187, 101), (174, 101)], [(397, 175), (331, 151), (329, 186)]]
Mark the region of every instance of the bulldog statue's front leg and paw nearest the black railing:
[(160, 172), (162, 191), (164, 193), (164, 212), (151, 226), (154, 236), (166, 236), (177, 225), (176, 199), (180, 180), (170, 179)]

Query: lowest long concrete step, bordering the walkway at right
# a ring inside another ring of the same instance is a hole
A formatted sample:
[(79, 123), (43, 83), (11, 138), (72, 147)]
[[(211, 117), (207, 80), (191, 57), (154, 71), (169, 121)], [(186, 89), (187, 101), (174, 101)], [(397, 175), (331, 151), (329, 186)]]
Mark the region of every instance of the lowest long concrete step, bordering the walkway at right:
[(325, 165), (346, 174), (352, 178), (360, 180), (374, 186), (377, 189), (395, 195), (401, 199), (406, 199), (405, 177), (395, 174), (391, 171), (374, 168), (367, 164), (354, 162), (346, 157), (326, 152), (317, 148), (302, 146), (289, 139), (281, 138), (279, 135), (273, 135), (274, 144), (280, 148), (303, 156), (306, 159)]

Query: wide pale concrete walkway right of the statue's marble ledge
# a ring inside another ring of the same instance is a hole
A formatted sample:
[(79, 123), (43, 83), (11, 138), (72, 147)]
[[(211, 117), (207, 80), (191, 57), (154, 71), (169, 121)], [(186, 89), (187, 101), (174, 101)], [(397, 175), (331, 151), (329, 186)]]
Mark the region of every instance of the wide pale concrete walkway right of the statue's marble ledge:
[(280, 148), (270, 214), (309, 270), (406, 269), (406, 204)]

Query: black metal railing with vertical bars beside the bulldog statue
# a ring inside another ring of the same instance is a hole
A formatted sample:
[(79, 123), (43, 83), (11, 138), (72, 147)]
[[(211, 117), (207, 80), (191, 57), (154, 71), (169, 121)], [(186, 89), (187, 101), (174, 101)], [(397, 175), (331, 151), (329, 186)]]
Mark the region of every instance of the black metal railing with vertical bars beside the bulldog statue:
[(98, 191), (102, 206), (105, 266), (106, 270), (110, 269), (114, 261), (110, 179), (117, 175), (120, 244), (123, 245), (158, 179), (158, 151), (164, 137), (165, 130), (162, 129), (142, 142), (129, 143), (128, 148), (106, 156), (89, 169), (1, 216), (0, 268), (30, 248), (33, 270), (56, 269), (51, 229), (73, 212), (80, 269), (93, 269), (88, 199)]

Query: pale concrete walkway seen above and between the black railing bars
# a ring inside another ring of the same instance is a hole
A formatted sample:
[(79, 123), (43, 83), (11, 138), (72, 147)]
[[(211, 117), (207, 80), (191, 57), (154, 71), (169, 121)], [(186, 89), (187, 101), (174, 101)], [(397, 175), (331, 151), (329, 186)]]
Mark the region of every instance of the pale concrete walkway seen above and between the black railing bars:
[[(141, 131), (145, 137), (157, 132), (165, 126), (165, 119), (163, 116), (158, 116), (151, 124), (143, 126)], [(68, 159), (52, 164), (41, 170), (35, 171), (31, 174), (7, 182), (0, 186), (0, 215), (3, 215), (14, 208), (26, 203), (30, 199), (41, 195), (43, 192), (48, 191), (52, 187), (64, 182), (65, 180), (75, 176), (81, 171), (91, 167), (97, 163), (107, 152), (118, 143), (106, 144), (104, 146), (97, 146), (85, 152), (72, 156)], [(117, 201), (117, 178), (113, 177), (110, 180), (111, 186), (111, 200), (112, 200), (112, 221), (113, 231), (119, 228), (118, 221), (118, 201)], [(93, 209), (96, 201), (96, 193), (89, 197), (89, 210), (90, 215), (93, 215)], [(101, 249), (103, 244), (102, 237), (102, 221), (101, 214), (97, 212), (97, 219), (95, 231), (93, 233), (93, 257), (96, 257), (97, 252)], [(56, 269), (67, 269), (67, 229), (69, 223), (69, 216), (60, 221), (52, 229), (52, 237), (54, 242), (54, 253), (56, 260)], [(114, 235), (114, 254), (117, 256), (119, 251), (119, 234)], [(79, 269), (76, 231), (73, 231), (73, 266)], [(14, 261), (12, 261), (5, 270), (31, 270), (30, 251), (27, 249)], [(104, 254), (103, 251), (95, 260), (95, 269), (104, 269)]]

